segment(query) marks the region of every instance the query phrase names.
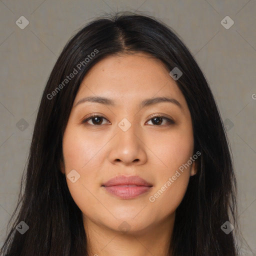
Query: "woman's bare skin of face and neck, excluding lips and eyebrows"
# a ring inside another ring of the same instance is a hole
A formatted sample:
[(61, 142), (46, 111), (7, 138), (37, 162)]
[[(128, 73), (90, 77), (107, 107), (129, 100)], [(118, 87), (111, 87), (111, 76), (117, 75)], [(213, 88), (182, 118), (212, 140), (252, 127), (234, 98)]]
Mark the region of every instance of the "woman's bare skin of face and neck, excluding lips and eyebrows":
[[(76, 105), (81, 98), (95, 95), (115, 100), (116, 106)], [(181, 107), (160, 102), (140, 108), (141, 100), (157, 96), (174, 98)], [(101, 123), (95, 118), (82, 123), (92, 113), (103, 116)], [(162, 119), (157, 124), (152, 114), (175, 123), (168, 125)], [(117, 125), (123, 118), (131, 124), (127, 131)], [(67, 175), (75, 169), (80, 175), (74, 183), (66, 181), (83, 214), (90, 255), (167, 255), (175, 209), (190, 175), (195, 174), (196, 161), (155, 201), (149, 201), (149, 196), (192, 157), (193, 142), (186, 100), (160, 60), (143, 52), (108, 56), (87, 72), (65, 128), (61, 171)], [(117, 175), (138, 175), (153, 187), (133, 199), (121, 199), (101, 186)], [(123, 221), (130, 228), (126, 232), (119, 229)]]

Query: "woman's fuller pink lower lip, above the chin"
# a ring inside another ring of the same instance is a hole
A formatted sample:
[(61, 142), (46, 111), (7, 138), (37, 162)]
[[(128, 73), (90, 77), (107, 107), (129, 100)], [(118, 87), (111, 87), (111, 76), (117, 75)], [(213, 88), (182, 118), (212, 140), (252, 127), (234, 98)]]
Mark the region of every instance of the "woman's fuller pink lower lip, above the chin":
[(113, 194), (121, 199), (132, 199), (140, 194), (146, 193), (151, 186), (103, 186), (110, 194)]

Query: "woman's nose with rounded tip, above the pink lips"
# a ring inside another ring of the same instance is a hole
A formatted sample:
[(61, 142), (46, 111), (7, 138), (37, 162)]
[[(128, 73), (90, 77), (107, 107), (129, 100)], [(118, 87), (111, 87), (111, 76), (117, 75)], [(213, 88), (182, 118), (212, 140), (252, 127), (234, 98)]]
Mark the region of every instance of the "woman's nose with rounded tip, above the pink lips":
[(123, 131), (117, 127), (117, 133), (111, 139), (108, 158), (113, 164), (140, 165), (147, 161), (146, 144), (140, 131), (135, 125)]

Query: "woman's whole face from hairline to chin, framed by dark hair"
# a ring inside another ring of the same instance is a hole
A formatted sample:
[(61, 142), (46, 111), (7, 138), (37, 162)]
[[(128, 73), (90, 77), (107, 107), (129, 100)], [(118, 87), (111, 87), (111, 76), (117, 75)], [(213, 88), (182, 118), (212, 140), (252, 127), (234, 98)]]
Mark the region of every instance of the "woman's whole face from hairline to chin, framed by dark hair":
[(108, 56), (87, 72), (61, 163), (84, 223), (135, 233), (173, 222), (195, 173), (192, 156), (190, 112), (159, 60), (146, 53)]

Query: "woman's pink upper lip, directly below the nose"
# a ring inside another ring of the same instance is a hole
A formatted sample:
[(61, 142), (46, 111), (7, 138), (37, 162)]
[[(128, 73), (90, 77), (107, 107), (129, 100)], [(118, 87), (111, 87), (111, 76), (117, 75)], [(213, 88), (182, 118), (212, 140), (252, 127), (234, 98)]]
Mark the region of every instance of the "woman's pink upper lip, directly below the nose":
[(152, 186), (149, 182), (139, 176), (116, 176), (110, 178), (102, 184), (102, 186), (115, 186), (115, 185), (137, 185), (137, 186)]

